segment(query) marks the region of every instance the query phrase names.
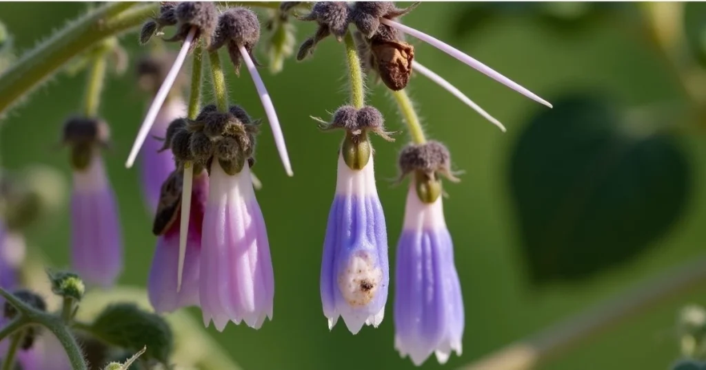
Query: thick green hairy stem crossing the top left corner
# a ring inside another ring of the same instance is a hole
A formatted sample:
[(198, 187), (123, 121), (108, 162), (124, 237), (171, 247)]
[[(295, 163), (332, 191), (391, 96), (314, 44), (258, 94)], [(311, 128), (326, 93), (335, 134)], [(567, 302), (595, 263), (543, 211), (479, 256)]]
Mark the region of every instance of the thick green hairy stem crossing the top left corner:
[(25, 53), (0, 75), (0, 113), (16, 104), (74, 56), (105, 37), (139, 25), (159, 8), (157, 3), (131, 8), (134, 4), (136, 2), (116, 2), (100, 6)]

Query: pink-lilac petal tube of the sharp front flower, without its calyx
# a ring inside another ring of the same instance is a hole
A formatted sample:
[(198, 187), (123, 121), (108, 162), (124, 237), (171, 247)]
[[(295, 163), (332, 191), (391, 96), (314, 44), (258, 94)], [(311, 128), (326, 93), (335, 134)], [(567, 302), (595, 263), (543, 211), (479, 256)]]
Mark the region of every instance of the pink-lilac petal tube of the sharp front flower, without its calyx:
[(260, 328), (273, 317), (275, 282), (270, 245), (249, 166), (228, 175), (214, 161), (203, 219), (203, 323), (222, 331), (228, 321)]

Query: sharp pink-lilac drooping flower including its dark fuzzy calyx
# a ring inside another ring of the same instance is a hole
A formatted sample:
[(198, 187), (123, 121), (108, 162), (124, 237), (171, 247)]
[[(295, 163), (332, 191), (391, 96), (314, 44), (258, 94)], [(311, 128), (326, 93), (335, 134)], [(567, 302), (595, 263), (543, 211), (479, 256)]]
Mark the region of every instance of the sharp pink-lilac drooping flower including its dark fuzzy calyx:
[(273, 316), (270, 245), (250, 172), (258, 124), (239, 106), (222, 112), (209, 105), (171, 140), (177, 164), (209, 169), (199, 300), (204, 324), (213, 321), (218, 331), (228, 321), (260, 328)]

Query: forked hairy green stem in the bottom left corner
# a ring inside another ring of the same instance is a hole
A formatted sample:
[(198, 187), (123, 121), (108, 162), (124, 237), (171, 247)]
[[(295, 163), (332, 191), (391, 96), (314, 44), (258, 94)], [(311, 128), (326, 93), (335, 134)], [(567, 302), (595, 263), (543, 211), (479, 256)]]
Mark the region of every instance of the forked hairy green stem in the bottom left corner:
[(71, 335), (71, 331), (68, 330), (64, 321), (61, 318), (49, 314), (47, 312), (42, 312), (37, 309), (30, 307), (25, 302), (22, 302), (14, 295), (11, 295), (6, 290), (0, 288), (0, 296), (5, 298), (5, 300), (12, 304), (13, 307), (18, 312), (17, 319), (14, 319), (8, 325), (0, 329), (0, 340), (5, 338), (7, 335), (11, 335), (18, 331), (25, 325), (41, 325), (49, 329), (59, 343), (64, 347), (66, 354), (68, 356), (68, 361), (71, 363), (71, 369), (73, 370), (88, 370), (88, 366), (83, 359), (83, 353), (76, 343), (76, 339)]

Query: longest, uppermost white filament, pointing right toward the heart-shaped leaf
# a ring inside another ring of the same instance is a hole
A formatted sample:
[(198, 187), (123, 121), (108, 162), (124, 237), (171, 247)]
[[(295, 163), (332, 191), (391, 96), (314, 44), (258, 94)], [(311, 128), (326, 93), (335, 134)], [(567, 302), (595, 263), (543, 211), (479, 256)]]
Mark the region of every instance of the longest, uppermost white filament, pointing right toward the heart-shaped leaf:
[(386, 18), (380, 18), (381, 23), (384, 23), (385, 25), (389, 25), (390, 27), (395, 27), (397, 30), (400, 30), (402, 32), (405, 32), (409, 35), (412, 35), (414, 37), (417, 37), (417, 39), (421, 39), (421, 41), (424, 41), (428, 44), (431, 44), (431, 46), (436, 47), (436, 49), (439, 49), (446, 54), (449, 54), (450, 56), (453, 56), (454, 58), (457, 58), (459, 61), (462, 61), (463, 63), (466, 63), (468, 66), (471, 66), (472, 68), (475, 68), (478, 70), (480, 73), (483, 73), (484, 75), (488, 76), (489, 78), (492, 78), (493, 80), (496, 80), (500, 82), (501, 84), (510, 87), (510, 89), (515, 90), (516, 92), (519, 92), (522, 95), (525, 95), (525, 97), (528, 97), (534, 101), (537, 101), (539, 103), (542, 103), (546, 106), (549, 106), (549, 108), (552, 108), (551, 104), (549, 104), (549, 101), (546, 101), (540, 97), (537, 96), (537, 94), (534, 94), (534, 92), (531, 92), (530, 90), (525, 89), (525, 87), (520, 86), (517, 84), (517, 82), (514, 82), (513, 80), (510, 80), (509, 78), (506, 78), (505, 76), (501, 75), (500, 73), (496, 72), (489, 66), (486, 66), (485, 64), (477, 61), (476, 59), (472, 58), (472, 56), (469, 56), (462, 51), (456, 49), (455, 47), (452, 47), (449, 44), (446, 44), (445, 42), (441, 41), (440, 39), (437, 39), (436, 37), (433, 37), (431, 35), (426, 35), (426, 33), (414, 30), (412, 27), (407, 27), (406, 25), (403, 25), (402, 23), (397, 23), (394, 20), (389, 20)]

